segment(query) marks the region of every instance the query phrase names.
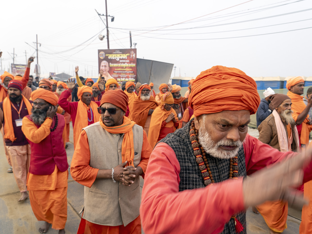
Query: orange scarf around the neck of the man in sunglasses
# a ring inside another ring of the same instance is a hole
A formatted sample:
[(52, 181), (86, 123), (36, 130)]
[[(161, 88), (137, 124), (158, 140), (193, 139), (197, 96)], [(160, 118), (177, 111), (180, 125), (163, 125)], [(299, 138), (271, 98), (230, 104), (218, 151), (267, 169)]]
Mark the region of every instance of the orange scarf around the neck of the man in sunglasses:
[(121, 159), (122, 163), (128, 161), (126, 166), (134, 166), (134, 143), (133, 143), (133, 131), (134, 122), (124, 116), (123, 123), (119, 126), (107, 127), (103, 124), (102, 117), (100, 117), (100, 124), (102, 128), (112, 134), (123, 134), (124, 139), (121, 144)]

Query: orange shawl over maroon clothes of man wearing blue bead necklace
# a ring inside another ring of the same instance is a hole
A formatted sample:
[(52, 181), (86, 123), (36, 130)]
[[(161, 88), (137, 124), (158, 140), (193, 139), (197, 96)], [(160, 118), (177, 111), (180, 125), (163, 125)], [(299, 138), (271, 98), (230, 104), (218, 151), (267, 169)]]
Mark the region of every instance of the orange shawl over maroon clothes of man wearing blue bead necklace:
[[(99, 105), (97, 105), (94, 101), (90, 102), (90, 106), (93, 113), (93, 119), (94, 123), (96, 123), (96, 119), (99, 119), (101, 117), (101, 114), (98, 113), (97, 108)], [(88, 110), (89, 107), (85, 105), (81, 100), (78, 101), (78, 107), (77, 107), (77, 115), (75, 119), (75, 125), (74, 125), (74, 149), (76, 147), (76, 144), (78, 142), (78, 137), (82, 131), (83, 128), (88, 126)]]

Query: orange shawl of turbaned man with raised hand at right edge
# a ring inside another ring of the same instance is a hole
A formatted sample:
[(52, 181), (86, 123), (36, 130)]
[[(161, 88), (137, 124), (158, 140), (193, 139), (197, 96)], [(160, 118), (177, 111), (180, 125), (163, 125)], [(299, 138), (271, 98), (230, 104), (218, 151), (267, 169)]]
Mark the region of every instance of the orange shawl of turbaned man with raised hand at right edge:
[[(298, 115), (300, 115), (306, 107), (305, 103), (302, 100), (303, 96), (294, 94), (290, 91), (287, 92), (287, 96), (290, 97), (292, 102), (291, 110), (294, 111), (294, 113), (292, 114), (293, 119), (297, 121)], [(307, 117), (301, 124), (302, 129), (300, 134), (300, 144), (309, 144), (309, 133), (312, 130), (312, 125), (307, 124), (309, 122), (308, 118), (309, 115), (307, 115)]]

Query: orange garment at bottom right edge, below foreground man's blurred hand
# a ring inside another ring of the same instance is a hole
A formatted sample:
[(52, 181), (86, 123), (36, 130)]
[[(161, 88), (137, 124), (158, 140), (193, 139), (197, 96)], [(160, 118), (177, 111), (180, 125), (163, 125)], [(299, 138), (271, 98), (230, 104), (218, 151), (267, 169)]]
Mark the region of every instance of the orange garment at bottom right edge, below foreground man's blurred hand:
[(312, 181), (304, 184), (304, 197), (309, 199), (309, 205), (302, 208), (301, 223), (299, 227), (300, 234), (312, 233)]

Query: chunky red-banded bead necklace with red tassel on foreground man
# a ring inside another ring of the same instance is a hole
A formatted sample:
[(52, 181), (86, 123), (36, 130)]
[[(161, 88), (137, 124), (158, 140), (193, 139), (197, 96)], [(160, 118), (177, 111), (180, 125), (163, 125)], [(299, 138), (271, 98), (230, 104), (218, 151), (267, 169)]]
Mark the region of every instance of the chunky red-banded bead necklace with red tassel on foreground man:
[[(194, 150), (194, 155), (196, 156), (196, 162), (198, 164), (199, 170), (202, 173), (202, 178), (204, 179), (205, 186), (212, 185), (215, 181), (212, 178), (212, 173), (209, 168), (208, 159), (206, 157), (206, 152), (204, 148), (200, 145), (198, 141), (198, 130), (195, 128), (194, 120), (191, 122), (190, 125), (190, 139), (192, 143), (192, 148)], [(234, 158), (230, 159), (230, 179), (237, 179), (238, 178), (238, 158), (235, 156)], [(232, 218), (235, 221), (235, 229), (236, 233), (240, 233), (244, 230), (241, 223), (236, 218), (236, 215), (233, 215)]]

